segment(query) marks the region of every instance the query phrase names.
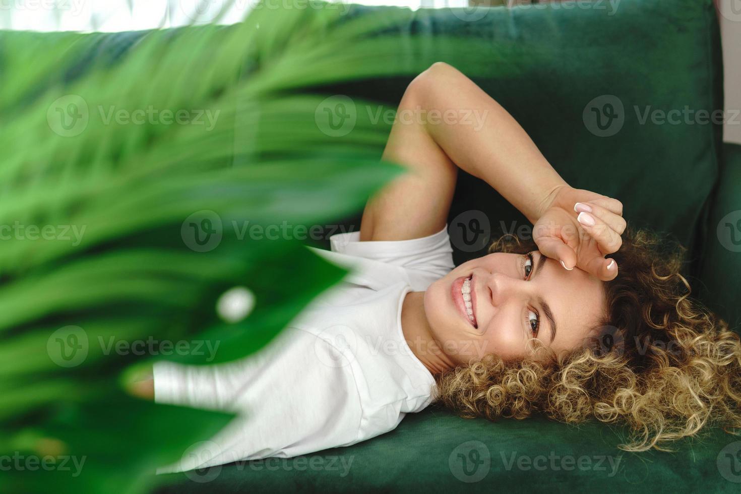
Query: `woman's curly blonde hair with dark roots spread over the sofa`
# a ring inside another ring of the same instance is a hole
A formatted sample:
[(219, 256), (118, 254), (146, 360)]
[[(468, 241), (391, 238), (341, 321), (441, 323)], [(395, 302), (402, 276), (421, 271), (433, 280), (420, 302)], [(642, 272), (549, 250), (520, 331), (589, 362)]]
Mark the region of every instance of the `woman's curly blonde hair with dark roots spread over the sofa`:
[[(680, 269), (685, 249), (648, 230), (628, 228), (611, 258), (607, 317), (584, 347), (546, 358), (503, 361), (490, 354), (436, 375), (436, 399), (466, 418), (627, 423), (619, 447), (670, 450), (669, 441), (705, 424), (741, 427), (741, 343), (728, 325), (689, 297)], [(489, 252), (526, 253), (532, 243), (503, 237)]]

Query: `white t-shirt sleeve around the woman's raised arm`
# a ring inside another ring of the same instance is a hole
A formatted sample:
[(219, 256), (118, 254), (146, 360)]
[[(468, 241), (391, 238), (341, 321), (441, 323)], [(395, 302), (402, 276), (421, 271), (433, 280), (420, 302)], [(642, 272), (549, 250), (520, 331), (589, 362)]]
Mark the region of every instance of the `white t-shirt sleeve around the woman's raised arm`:
[(436, 278), (442, 278), (455, 267), (447, 225), (430, 236), (410, 240), (360, 241), (360, 232), (337, 233), (330, 237), (330, 250), (394, 264)]

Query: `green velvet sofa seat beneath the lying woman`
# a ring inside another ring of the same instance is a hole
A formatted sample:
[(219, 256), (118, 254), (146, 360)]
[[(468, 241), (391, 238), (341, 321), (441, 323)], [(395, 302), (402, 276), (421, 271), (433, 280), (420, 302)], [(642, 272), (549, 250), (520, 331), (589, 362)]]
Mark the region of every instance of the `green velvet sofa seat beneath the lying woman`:
[(738, 492), (726, 454), (741, 442), (721, 430), (676, 453), (627, 453), (615, 447), (622, 438), (602, 424), (491, 423), (432, 407), (351, 447), (168, 475), (173, 484), (159, 494)]

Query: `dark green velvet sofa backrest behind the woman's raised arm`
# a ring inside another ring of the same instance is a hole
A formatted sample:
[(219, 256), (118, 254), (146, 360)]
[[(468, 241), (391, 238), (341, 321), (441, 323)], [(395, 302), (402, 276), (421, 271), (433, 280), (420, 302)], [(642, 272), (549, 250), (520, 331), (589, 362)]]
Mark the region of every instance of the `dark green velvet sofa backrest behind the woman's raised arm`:
[[(382, 8), (397, 10), (366, 13)], [(446, 61), (499, 101), (569, 184), (619, 198), (629, 224), (671, 233), (695, 263), (722, 141), (711, 0), (423, 9), (399, 16), (392, 34), (402, 36), (396, 57), (408, 73), (328, 90), (393, 105), (414, 70)], [(449, 218), (456, 262), (482, 255), (502, 233), (528, 236), (528, 226), (462, 174)]]

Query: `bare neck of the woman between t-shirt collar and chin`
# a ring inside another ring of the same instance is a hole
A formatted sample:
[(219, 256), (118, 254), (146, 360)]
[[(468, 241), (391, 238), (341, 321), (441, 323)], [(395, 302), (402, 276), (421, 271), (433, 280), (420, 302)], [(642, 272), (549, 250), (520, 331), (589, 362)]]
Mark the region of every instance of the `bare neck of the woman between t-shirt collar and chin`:
[(425, 314), (425, 292), (408, 292), (402, 304), (402, 333), (412, 353), (433, 375), (455, 367), (432, 335)]

